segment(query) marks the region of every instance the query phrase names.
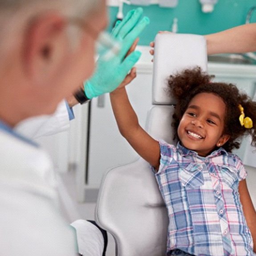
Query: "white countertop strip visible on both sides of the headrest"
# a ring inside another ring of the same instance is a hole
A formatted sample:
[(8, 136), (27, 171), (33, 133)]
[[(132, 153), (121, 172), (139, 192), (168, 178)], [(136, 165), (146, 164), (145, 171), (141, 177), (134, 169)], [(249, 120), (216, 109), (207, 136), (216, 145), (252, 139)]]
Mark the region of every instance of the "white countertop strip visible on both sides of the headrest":
[[(142, 56), (136, 64), (138, 73), (152, 73), (153, 62), (149, 46), (138, 45), (136, 50)], [(208, 73), (221, 77), (245, 77), (256, 79), (256, 65), (208, 62)]]

